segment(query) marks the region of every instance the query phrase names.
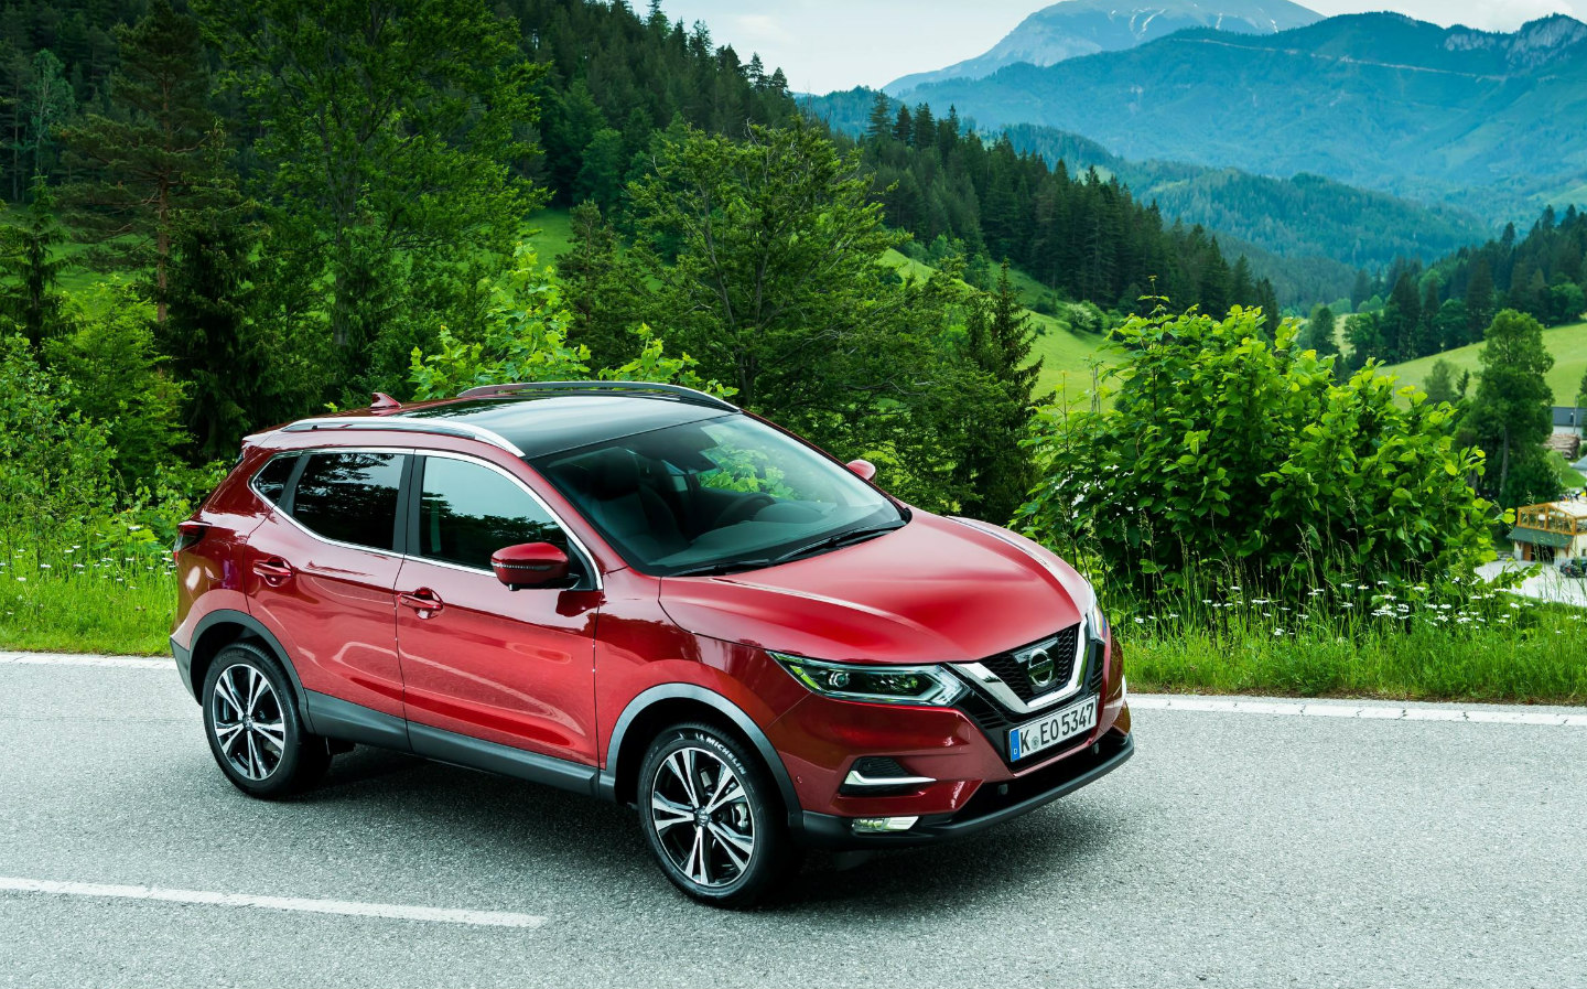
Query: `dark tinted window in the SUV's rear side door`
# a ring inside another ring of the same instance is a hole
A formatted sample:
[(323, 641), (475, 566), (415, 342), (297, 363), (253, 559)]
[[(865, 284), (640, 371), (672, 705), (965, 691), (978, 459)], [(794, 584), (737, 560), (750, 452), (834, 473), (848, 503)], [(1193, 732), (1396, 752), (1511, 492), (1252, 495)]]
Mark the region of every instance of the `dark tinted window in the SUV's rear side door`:
[(292, 518), (338, 543), (392, 549), (403, 454), (309, 454), (292, 491)]

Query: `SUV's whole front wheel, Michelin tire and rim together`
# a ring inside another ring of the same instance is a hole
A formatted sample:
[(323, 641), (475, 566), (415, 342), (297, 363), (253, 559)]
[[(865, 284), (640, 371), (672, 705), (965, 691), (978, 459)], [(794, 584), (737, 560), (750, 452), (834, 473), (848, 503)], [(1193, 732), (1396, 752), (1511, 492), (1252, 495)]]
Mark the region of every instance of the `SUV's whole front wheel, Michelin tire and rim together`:
[(657, 865), (700, 903), (752, 906), (798, 868), (782, 800), (759, 756), (714, 725), (679, 724), (657, 735), (640, 767), (638, 797)]

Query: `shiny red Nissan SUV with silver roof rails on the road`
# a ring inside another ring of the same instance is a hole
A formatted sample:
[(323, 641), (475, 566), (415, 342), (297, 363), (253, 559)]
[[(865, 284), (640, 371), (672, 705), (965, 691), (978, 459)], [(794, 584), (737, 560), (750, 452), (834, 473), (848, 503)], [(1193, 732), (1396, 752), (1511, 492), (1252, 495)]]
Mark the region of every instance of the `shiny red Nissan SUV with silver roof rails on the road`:
[(227, 778), (354, 743), (633, 805), (686, 894), (936, 841), (1130, 757), (1087, 583), (727, 402), (509, 384), (249, 437), (183, 524), (171, 651)]

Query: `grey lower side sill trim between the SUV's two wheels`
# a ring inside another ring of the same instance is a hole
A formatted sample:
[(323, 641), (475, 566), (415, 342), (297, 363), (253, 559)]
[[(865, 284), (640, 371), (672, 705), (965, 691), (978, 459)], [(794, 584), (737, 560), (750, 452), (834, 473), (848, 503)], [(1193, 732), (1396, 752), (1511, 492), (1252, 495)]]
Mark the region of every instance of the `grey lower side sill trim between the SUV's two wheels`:
[(436, 762), (448, 762), (470, 770), (513, 776), (528, 783), (541, 783), (576, 794), (597, 795), (595, 778), (598, 770), (592, 765), (541, 756), (514, 749), (508, 745), (482, 741), (444, 732), (430, 725), (414, 724), (371, 711), (362, 705), (349, 703), (329, 694), (305, 691), (308, 710), (314, 722), (314, 730), (327, 738), (373, 745), (398, 752), (413, 752)]

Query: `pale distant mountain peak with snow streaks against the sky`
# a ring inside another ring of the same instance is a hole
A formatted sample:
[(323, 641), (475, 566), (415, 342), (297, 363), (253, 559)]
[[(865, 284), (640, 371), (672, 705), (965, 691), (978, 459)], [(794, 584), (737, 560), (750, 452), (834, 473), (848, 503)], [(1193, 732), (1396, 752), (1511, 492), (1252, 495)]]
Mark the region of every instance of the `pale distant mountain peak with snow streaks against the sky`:
[(982, 79), (1005, 65), (1057, 65), (1100, 51), (1122, 51), (1176, 30), (1211, 27), (1241, 33), (1276, 33), (1320, 21), (1322, 14), (1289, 0), (1159, 0), (1122, 6), (1119, 0), (1065, 0), (1025, 17), (992, 51), (893, 81), (886, 89), (903, 95), (946, 79)]

